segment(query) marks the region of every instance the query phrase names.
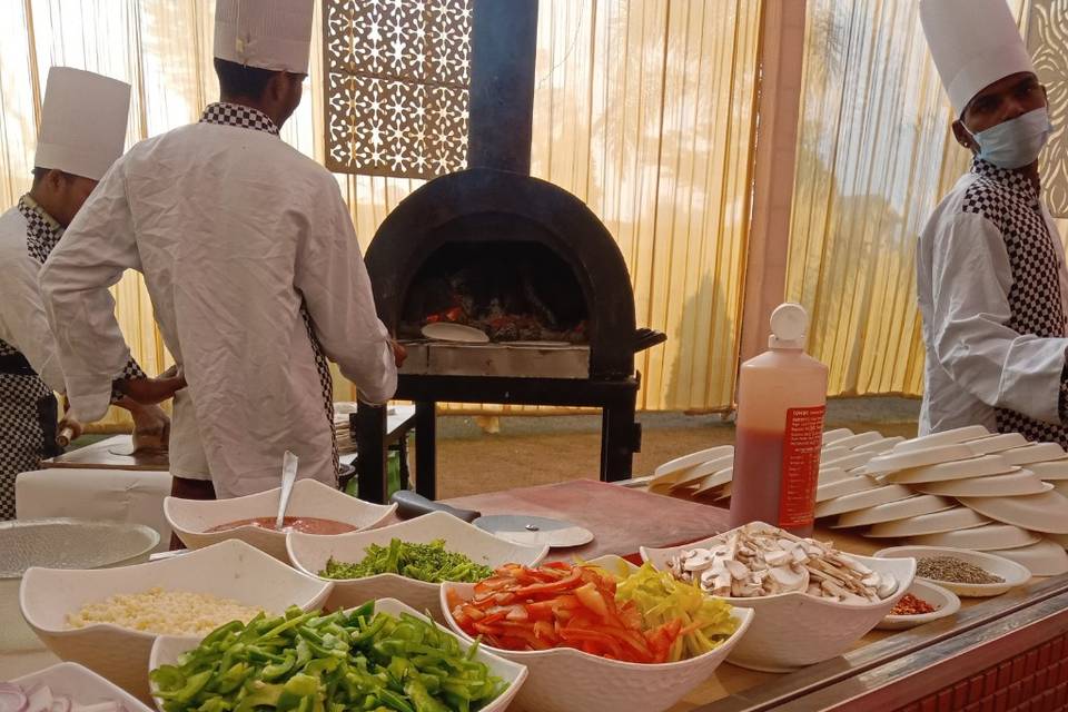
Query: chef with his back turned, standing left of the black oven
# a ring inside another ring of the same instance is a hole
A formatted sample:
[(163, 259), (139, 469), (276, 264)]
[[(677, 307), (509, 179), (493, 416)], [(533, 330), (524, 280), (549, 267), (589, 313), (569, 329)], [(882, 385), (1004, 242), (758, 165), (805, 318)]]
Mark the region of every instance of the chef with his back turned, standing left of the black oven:
[[(119, 159), (41, 274), (72, 408), (99, 417), (129, 357), (108, 287), (144, 274), (188, 387), (175, 395), (172, 493), (335, 484), (327, 357), (384, 403), (403, 352), (378, 320), (335, 178), (278, 137), (300, 101), (312, 0), (218, 0), (220, 101)], [(395, 353), (395, 349), (396, 353)]]

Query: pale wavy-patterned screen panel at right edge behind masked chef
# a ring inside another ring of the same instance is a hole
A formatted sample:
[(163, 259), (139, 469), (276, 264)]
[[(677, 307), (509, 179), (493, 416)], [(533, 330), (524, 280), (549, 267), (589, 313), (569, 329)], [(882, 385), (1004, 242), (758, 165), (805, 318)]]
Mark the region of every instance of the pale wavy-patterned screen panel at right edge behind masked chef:
[(1027, 44), (1049, 91), (1054, 135), (1042, 152), (1042, 192), (1056, 217), (1068, 217), (1068, 0), (1032, 0)]

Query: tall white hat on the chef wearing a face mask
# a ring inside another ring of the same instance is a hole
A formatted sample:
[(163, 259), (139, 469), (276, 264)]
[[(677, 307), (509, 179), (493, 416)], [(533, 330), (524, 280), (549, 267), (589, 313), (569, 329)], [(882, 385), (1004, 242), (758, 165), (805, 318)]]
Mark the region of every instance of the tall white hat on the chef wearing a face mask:
[(921, 0), (920, 21), (957, 116), (997, 80), (1035, 71), (1006, 0)]

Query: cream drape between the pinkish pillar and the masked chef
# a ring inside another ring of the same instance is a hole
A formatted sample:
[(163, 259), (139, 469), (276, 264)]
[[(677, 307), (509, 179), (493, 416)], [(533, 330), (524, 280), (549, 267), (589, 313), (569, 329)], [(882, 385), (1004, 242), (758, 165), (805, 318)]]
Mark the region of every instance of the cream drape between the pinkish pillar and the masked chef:
[(812, 315), (831, 395), (920, 395), (916, 240), (970, 157), (918, 3), (808, 0), (800, 113), (787, 296)]

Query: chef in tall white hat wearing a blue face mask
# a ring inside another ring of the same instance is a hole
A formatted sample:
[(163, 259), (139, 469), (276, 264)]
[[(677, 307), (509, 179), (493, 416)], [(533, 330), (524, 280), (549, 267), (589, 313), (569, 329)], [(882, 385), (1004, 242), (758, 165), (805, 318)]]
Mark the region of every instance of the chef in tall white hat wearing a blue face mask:
[(1006, 0), (924, 0), (920, 13), (973, 155), (917, 248), (920, 432), (981, 424), (1068, 447), (1068, 271), (1038, 175), (1046, 90)]

